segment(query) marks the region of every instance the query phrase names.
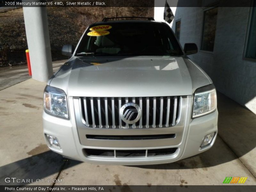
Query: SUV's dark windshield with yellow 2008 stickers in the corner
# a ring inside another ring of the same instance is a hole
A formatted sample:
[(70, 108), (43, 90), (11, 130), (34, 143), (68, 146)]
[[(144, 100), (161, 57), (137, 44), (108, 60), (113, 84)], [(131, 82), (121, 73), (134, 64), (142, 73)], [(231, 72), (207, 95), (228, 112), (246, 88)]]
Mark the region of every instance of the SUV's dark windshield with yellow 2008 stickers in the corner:
[(92, 25), (76, 55), (182, 55), (171, 29), (162, 23)]

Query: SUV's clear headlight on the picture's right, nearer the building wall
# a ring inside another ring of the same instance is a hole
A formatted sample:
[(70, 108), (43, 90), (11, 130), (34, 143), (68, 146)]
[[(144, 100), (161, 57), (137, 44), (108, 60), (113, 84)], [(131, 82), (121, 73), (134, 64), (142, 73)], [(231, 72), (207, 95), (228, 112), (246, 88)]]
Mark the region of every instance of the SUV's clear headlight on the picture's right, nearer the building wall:
[(196, 90), (192, 118), (206, 115), (217, 108), (216, 89), (213, 84)]

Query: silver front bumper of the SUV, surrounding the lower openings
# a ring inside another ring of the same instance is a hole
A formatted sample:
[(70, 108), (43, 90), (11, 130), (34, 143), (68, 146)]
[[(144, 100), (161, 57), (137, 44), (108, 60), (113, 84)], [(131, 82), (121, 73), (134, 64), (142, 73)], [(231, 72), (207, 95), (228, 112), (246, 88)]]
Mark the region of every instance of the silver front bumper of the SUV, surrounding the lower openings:
[[(217, 136), (217, 121), (218, 111), (211, 114), (191, 119), (193, 98), (188, 96), (184, 103), (182, 127), (169, 127), (157, 129), (93, 129), (86, 128), (88, 132), (101, 132), (107, 134), (119, 135), (123, 134), (159, 134), (173, 131), (179, 133), (177, 138), (173, 139), (154, 139), (154, 140), (88, 140), (88, 142), (81, 141), (78, 134), (78, 126), (81, 126), (76, 119), (76, 112), (74, 110), (74, 100), (69, 97), (69, 120), (61, 119), (48, 115), (43, 112), (43, 126), (44, 134), (57, 137), (61, 149), (52, 148), (47, 142), (49, 148), (59, 153), (62, 156), (78, 161), (84, 161), (97, 164), (120, 164), (120, 165), (139, 165), (139, 164), (164, 164), (178, 161), (180, 159), (194, 156), (204, 152), (212, 147)], [(185, 111), (184, 111), (185, 110)], [(77, 110), (76, 110), (77, 111)], [(182, 131), (178, 131), (182, 129)], [(125, 132), (125, 133), (124, 133)], [(132, 132), (132, 133), (131, 133)], [(215, 136), (210, 145), (200, 148), (205, 135), (215, 132)], [(85, 135), (84, 135), (85, 136)], [(81, 144), (82, 143), (82, 144)], [(87, 143), (87, 145), (86, 145)], [(177, 148), (177, 150), (170, 155), (160, 156), (144, 156), (144, 157), (108, 157), (108, 156), (88, 156), (84, 153), (84, 149), (109, 149), (109, 150), (150, 150), (150, 149), (163, 149), (163, 148)]]

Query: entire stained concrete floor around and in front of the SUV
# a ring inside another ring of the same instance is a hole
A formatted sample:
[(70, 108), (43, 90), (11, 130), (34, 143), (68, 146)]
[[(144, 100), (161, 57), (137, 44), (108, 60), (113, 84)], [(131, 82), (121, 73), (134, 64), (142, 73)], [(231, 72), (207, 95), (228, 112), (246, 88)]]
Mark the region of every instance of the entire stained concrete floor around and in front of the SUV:
[(116, 166), (66, 160), (48, 150), (44, 86), (28, 79), (0, 91), (0, 185), (13, 184), (6, 177), (62, 179), (55, 185), (221, 185), (228, 176), (256, 185), (256, 115), (220, 93), (219, 133), (210, 150), (172, 164)]

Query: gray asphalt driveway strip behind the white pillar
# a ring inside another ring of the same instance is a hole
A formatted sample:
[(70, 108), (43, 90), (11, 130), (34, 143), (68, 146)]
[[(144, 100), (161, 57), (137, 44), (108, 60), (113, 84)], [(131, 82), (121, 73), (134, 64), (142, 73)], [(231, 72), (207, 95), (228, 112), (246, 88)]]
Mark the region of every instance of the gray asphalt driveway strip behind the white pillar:
[[(53, 62), (53, 72), (56, 72), (63, 63), (64, 60)], [(28, 76), (27, 65), (0, 68), (0, 90), (25, 81), (29, 78), (31, 78), (31, 76)]]

